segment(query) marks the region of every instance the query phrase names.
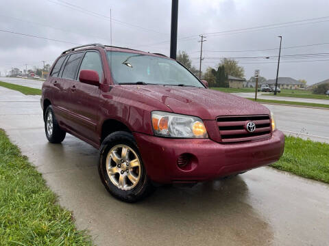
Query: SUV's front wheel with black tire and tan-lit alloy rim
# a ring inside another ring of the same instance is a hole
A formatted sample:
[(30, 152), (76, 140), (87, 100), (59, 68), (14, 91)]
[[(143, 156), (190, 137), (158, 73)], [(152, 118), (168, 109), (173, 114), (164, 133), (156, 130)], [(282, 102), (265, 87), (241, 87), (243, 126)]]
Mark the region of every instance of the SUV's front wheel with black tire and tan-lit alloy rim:
[(103, 140), (98, 172), (108, 192), (123, 202), (137, 202), (154, 191), (130, 133), (118, 131)]

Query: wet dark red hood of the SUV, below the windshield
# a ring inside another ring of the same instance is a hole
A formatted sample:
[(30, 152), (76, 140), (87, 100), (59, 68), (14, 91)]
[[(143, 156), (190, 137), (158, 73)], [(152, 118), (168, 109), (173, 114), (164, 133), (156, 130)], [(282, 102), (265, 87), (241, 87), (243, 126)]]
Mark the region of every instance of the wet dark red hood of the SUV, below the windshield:
[[(124, 85), (127, 86), (127, 85)], [(269, 114), (258, 102), (206, 88), (171, 85), (128, 85), (130, 90), (162, 102), (173, 113), (195, 115), (202, 120), (215, 120), (222, 115)]]

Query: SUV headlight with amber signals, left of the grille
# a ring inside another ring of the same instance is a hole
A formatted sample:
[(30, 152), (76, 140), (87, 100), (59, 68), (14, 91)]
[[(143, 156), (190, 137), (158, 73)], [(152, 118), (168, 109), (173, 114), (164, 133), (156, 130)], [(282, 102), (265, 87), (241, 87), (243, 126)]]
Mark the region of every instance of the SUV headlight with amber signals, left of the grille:
[(208, 133), (204, 122), (195, 116), (151, 112), (154, 134), (162, 137), (207, 138)]

